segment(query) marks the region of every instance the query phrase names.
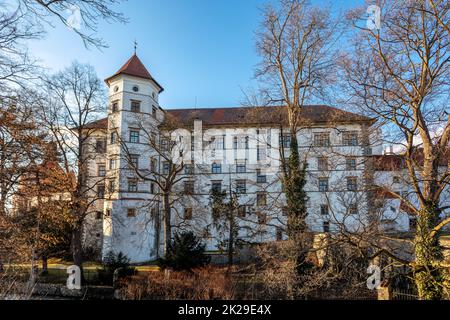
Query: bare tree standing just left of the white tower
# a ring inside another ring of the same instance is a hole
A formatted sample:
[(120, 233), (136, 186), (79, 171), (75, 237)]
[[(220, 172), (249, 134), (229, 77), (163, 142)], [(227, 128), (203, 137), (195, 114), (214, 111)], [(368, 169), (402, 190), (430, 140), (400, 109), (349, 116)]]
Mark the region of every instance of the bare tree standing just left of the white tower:
[(76, 183), (70, 192), (72, 254), (82, 268), (82, 234), (85, 218), (93, 213), (100, 196), (96, 187), (104, 179), (89, 179), (89, 162), (95, 153), (95, 128), (89, 126), (103, 109), (104, 89), (94, 69), (74, 62), (67, 69), (44, 80), (48, 92), (39, 109), (40, 122), (51, 134), (61, 155), (61, 167), (74, 173)]

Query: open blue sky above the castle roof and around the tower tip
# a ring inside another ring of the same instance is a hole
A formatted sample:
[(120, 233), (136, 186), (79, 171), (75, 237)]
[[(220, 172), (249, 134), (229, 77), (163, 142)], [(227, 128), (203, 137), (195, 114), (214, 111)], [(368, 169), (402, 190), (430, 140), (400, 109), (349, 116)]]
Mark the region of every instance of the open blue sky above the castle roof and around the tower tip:
[[(336, 0), (336, 11), (361, 1)], [(30, 43), (30, 52), (50, 70), (72, 61), (92, 64), (102, 79), (112, 75), (133, 53), (165, 88), (164, 108), (237, 106), (252, 84), (258, 56), (254, 31), (262, 0), (129, 0), (117, 9), (128, 24), (101, 23), (98, 36), (109, 48), (87, 50), (63, 26), (48, 28), (44, 40)], [(313, 1), (329, 5), (329, 1)]]

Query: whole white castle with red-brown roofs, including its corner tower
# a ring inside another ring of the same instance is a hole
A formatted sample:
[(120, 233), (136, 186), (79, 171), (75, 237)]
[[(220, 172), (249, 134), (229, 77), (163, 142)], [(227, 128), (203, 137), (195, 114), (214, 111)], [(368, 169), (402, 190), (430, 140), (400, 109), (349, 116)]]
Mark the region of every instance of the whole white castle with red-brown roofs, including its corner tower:
[[(106, 83), (107, 118), (89, 126), (94, 134), (87, 149), (88, 176), (98, 200), (85, 224), (85, 246), (103, 255), (123, 252), (132, 262), (160, 256), (166, 236), (159, 214), (165, 174), (175, 175), (165, 199), (170, 201), (172, 232), (192, 230), (208, 250), (220, 250), (223, 235), (211, 206), (211, 190), (216, 189), (238, 195), (243, 243), (286, 239), (279, 160), (281, 153), (289, 154), (290, 141), (282, 108), (165, 110), (158, 103), (163, 88), (136, 55)], [(401, 174), (374, 166), (374, 159), (383, 163), (388, 156), (382, 154), (373, 119), (328, 106), (307, 106), (302, 118), (297, 138), (300, 156), (308, 163), (305, 189), (312, 231), (333, 232), (340, 224), (357, 229), (373, 205), (365, 191), (369, 184), (407, 190)], [(178, 167), (153, 147), (162, 140), (168, 119), (183, 124), (173, 140), (192, 141), (187, 149), (171, 150)], [(383, 210), (381, 227), (407, 232), (413, 225), (399, 201)]]

